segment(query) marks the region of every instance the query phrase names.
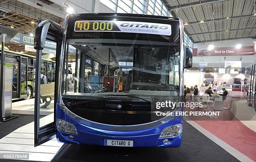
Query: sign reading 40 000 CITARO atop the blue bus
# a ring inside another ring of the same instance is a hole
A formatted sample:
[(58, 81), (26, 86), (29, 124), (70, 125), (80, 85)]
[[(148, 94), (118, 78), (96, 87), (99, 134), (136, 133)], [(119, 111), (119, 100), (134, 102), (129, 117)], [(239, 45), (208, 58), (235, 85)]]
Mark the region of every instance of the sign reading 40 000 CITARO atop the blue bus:
[(75, 32), (125, 32), (157, 35), (171, 35), (169, 24), (133, 22), (133, 21), (76, 21)]

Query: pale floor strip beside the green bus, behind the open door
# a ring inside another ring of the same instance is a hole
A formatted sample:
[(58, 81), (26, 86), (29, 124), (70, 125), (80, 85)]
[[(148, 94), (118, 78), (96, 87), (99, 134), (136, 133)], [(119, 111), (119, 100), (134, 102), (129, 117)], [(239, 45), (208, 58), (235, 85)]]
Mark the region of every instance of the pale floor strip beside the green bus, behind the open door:
[[(28, 99), (12, 103), (12, 114), (34, 115), (35, 99)], [(48, 109), (40, 109), (40, 115), (49, 115), (54, 112), (54, 100), (47, 106)]]

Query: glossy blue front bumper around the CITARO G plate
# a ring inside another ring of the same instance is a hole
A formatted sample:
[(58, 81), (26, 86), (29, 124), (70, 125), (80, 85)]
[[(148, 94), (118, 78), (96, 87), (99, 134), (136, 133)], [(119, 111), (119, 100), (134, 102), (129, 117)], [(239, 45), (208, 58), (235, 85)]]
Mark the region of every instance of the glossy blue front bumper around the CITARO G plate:
[[(106, 129), (97, 129), (81, 124), (77, 120), (72, 119), (61, 109), (57, 110), (57, 120), (60, 119), (69, 122), (77, 130), (76, 133), (72, 134), (60, 131), (57, 126), (56, 138), (59, 142), (104, 146), (106, 139), (113, 139), (133, 141), (133, 147), (179, 147), (181, 144), (183, 130), (182, 118), (180, 116), (176, 116), (173, 120), (148, 129), (134, 131), (108, 131)], [(179, 124), (181, 125), (181, 129), (177, 136), (159, 138), (164, 129)]]

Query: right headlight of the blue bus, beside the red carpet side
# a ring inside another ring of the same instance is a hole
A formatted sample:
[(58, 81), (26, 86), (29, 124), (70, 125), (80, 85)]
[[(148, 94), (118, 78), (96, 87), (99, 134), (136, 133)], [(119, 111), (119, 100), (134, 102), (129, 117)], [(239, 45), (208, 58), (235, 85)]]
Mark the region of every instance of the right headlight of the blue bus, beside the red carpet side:
[(182, 132), (182, 124), (172, 125), (170, 127), (164, 128), (159, 138), (177, 137), (179, 136), (179, 134), (181, 134), (181, 132)]

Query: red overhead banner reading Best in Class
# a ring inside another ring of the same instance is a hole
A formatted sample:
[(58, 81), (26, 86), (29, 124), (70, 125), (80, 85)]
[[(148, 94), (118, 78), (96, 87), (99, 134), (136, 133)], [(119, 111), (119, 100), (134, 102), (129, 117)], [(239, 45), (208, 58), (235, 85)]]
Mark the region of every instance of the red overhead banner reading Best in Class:
[(193, 48), (193, 56), (241, 56), (253, 55), (253, 46), (242, 46), (240, 49), (236, 47), (215, 47), (208, 50), (206, 47)]

